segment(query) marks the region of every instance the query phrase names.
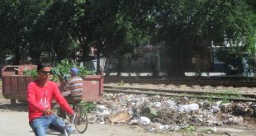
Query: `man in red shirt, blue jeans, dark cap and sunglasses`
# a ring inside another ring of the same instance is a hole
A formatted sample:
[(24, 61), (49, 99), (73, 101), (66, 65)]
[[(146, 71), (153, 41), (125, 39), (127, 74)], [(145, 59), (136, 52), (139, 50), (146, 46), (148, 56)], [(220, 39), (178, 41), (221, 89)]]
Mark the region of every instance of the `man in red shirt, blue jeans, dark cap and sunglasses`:
[[(45, 136), (46, 129), (55, 129), (61, 134), (65, 134), (65, 132), (73, 133), (71, 127), (64, 128), (59, 125), (58, 118), (51, 110), (52, 101), (55, 99), (69, 115), (76, 115), (75, 111), (60, 94), (57, 84), (50, 81), (50, 65), (39, 63), (37, 65), (37, 75), (38, 78), (27, 86), (29, 124), (34, 134)], [(64, 124), (63, 121), (61, 123)]]

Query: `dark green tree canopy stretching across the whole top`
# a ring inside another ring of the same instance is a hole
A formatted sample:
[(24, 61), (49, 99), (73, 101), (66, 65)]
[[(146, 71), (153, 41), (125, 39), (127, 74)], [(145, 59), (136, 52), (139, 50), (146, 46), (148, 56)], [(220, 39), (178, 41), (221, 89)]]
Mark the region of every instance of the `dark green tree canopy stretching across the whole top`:
[(0, 2), (0, 58), (12, 64), (88, 61), (95, 48), (98, 57), (117, 59), (121, 70), (145, 45), (164, 42), (168, 72), (183, 75), (187, 62), (206, 57), (212, 45), (255, 54), (254, 0)]

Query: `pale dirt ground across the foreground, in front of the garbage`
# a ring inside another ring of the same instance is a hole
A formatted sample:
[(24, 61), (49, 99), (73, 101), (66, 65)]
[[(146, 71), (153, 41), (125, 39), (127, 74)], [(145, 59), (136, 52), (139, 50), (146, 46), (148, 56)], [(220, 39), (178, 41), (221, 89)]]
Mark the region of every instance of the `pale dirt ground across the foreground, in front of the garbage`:
[[(20, 136), (34, 135), (28, 124), (27, 105), (18, 103), (11, 105), (9, 100), (0, 98), (0, 135), (3, 136)], [(255, 123), (255, 122), (254, 122)], [(145, 129), (137, 125), (110, 125), (110, 124), (88, 124), (88, 129), (84, 134), (74, 133), (73, 135), (90, 135), (90, 136), (185, 136), (185, 135), (234, 135), (234, 136), (255, 136), (256, 126), (244, 122), (242, 125), (220, 126), (216, 127), (216, 132), (206, 134), (203, 132), (213, 127), (197, 127), (196, 131), (187, 132), (164, 132), (154, 133), (145, 132)], [(47, 135), (56, 135), (47, 134)]]

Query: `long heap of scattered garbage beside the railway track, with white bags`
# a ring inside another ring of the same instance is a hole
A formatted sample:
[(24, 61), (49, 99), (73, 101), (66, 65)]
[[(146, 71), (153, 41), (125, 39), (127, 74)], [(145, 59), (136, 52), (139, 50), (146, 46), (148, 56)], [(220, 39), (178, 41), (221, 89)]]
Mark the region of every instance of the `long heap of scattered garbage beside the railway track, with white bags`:
[(150, 132), (178, 131), (188, 126), (242, 124), (245, 116), (256, 117), (255, 109), (253, 102), (107, 93), (89, 123), (140, 125)]

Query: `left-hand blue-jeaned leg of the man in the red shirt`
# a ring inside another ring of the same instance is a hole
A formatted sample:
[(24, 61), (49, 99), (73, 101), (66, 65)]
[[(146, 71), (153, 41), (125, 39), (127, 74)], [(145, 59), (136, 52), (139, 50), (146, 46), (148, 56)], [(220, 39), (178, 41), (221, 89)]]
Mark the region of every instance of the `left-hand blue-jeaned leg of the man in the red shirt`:
[(45, 130), (48, 128), (49, 124), (50, 120), (46, 115), (43, 115), (40, 118), (33, 120), (30, 123), (30, 126), (36, 136), (45, 136)]

